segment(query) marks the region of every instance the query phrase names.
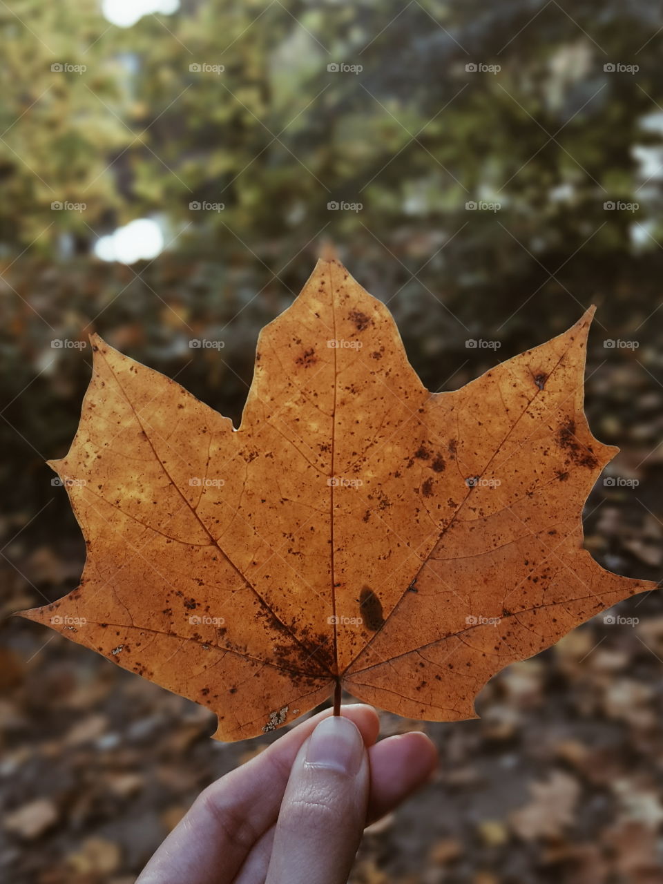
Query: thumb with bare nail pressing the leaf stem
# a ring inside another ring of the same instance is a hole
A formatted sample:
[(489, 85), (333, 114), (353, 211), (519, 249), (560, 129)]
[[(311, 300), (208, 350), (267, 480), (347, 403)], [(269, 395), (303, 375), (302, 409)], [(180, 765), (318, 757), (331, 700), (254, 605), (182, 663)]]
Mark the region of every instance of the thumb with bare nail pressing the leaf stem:
[(362, 840), (369, 757), (343, 716), (318, 724), (294, 759), (265, 884), (346, 884)]

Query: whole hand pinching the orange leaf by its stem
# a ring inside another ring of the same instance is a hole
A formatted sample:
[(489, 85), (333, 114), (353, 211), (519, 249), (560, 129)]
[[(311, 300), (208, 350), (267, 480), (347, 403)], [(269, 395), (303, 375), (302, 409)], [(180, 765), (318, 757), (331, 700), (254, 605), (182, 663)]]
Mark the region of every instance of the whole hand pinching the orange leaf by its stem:
[(304, 721), (205, 789), (136, 884), (345, 884), (363, 828), (436, 765), (426, 735), (378, 730), (366, 705)]

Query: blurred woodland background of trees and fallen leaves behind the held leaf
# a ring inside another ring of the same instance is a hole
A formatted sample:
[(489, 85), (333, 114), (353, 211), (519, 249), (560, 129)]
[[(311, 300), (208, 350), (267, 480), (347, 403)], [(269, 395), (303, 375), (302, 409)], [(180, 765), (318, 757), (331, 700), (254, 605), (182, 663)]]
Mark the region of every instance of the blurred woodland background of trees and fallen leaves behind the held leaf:
[[(431, 390), (591, 303), (591, 493), (606, 568), (663, 562), (663, 8), (654, 0), (0, 3), (4, 615), (77, 585), (48, 458), (88, 333), (239, 422), (261, 326), (325, 242)], [(194, 339), (222, 349), (190, 346)], [(424, 724), (431, 786), (354, 884), (663, 881), (663, 604), (640, 596)], [(27, 621), (0, 627), (0, 878), (131, 884), (194, 796), (274, 736)], [(386, 733), (420, 727), (384, 715)]]

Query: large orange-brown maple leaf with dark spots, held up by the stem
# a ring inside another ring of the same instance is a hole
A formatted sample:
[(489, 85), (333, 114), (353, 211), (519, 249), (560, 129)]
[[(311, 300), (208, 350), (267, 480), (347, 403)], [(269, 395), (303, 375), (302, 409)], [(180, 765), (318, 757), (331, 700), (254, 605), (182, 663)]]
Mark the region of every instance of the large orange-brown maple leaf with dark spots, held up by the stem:
[(88, 545), (80, 587), (23, 616), (207, 705), (218, 739), (341, 686), (414, 719), (474, 697), (654, 583), (583, 549), (617, 449), (591, 435), (592, 311), (431, 393), (385, 305), (335, 260), (260, 334), (240, 429), (93, 336), (57, 469)]

